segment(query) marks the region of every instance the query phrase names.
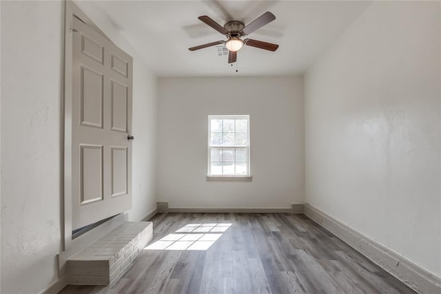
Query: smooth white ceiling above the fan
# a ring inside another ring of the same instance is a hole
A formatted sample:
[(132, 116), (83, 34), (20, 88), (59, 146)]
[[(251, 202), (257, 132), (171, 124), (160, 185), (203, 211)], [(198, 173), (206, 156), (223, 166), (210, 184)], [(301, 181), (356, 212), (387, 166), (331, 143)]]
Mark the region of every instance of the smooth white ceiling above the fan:
[[(156, 76), (302, 74), (367, 8), (369, 1), (93, 1)], [(198, 20), (245, 25), (266, 11), (276, 20), (247, 36), (280, 45), (276, 52), (244, 46), (232, 67), (216, 47), (187, 48), (225, 36)]]

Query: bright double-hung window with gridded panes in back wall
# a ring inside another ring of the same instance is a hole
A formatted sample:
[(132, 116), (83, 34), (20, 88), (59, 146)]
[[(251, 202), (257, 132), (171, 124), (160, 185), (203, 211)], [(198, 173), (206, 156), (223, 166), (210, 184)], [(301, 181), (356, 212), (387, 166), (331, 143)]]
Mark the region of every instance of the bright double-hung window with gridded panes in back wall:
[(249, 176), (249, 116), (208, 116), (207, 180)]

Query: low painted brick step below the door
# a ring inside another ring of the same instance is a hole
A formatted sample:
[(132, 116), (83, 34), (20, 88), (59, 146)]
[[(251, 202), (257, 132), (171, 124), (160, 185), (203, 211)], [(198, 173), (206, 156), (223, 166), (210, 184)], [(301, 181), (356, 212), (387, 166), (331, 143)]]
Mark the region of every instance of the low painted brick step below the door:
[(68, 260), (68, 284), (108, 285), (119, 280), (152, 235), (152, 222), (121, 224)]

